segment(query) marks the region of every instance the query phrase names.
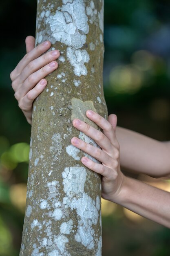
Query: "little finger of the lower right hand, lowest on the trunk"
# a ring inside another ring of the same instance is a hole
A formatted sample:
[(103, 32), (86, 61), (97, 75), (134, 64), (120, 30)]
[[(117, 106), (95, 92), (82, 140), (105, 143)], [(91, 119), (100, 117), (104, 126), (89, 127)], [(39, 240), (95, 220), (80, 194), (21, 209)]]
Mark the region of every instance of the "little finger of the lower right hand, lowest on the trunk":
[(102, 176), (106, 177), (106, 179), (113, 179), (114, 172), (107, 166), (104, 166), (103, 164), (97, 164), (87, 157), (82, 157), (81, 162), (92, 171), (95, 171), (96, 173), (99, 173)]

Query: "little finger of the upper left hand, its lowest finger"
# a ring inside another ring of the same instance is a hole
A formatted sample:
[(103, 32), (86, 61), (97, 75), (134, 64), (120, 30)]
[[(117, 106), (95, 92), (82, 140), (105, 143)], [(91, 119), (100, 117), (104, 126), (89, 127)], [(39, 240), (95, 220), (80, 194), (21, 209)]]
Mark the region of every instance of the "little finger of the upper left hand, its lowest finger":
[(40, 93), (44, 90), (47, 85), (46, 79), (42, 79), (35, 87), (30, 90), (23, 98), (21, 103), (19, 103), (19, 107), (28, 111), (32, 109), (33, 101), (40, 95)]

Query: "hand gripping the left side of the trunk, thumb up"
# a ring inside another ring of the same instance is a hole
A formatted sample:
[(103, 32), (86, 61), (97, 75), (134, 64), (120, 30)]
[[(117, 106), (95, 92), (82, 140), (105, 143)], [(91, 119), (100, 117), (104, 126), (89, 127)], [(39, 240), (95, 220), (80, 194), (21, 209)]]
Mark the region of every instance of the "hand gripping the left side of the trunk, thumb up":
[(33, 36), (27, 36), (25, 44), (26, 55), (11, 72), (10, 78), (18, 106), (31, 124), (33, 101), (47, 85), (44, 77), (58, 67), (55, 60), (60, 56), (60, 52), (53, 50), (44, 54), (51, 47), (51, 43), (45, 41), (35, 47)]

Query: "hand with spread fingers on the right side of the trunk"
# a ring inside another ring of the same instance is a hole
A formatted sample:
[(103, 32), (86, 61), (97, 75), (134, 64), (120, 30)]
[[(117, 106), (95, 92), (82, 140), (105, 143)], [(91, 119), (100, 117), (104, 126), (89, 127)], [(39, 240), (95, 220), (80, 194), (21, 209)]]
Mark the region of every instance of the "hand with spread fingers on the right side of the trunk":
[(107, 121), (91, 110), (86, 111), (86, 116), (102, 128), (104, 133), (79, 119), (73, 120), (73, 126), (94, 139), (102, 149), (96, 148), (77, 137), (71, 139), (71, 144), (102, 162), (97, 164), (88, 157), (81, 159), (82, 164), (102, 175), (102, 197), (116, 202), (125, 178), (120, 170), (119, 143), (115, 135), (117, 117), (112, 114)]

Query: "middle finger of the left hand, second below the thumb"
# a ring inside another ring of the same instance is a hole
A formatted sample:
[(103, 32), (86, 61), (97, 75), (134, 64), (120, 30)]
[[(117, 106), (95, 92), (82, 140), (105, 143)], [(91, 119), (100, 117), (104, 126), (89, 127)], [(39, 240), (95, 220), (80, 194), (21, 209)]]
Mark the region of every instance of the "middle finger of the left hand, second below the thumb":
[(33, 72), (39, 70), (41, 67), (44, 67), (51, 61), (56, 60), (60, 56), (60, 52), (58, 50), (53, 50), (43, 54), (42, 56), (36, 58), (35, 60), (31, 61), (22, 71), (20, 76), (17, 77), (20, 83), (23, 83), (26, 78), (31, 75)]

